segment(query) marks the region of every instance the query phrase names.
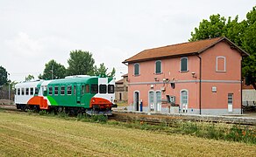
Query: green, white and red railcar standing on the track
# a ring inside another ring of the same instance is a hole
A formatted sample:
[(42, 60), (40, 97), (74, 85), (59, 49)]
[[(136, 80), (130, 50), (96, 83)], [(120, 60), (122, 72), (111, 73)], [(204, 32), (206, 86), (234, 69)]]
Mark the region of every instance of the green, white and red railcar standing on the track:
[(115, 80), (96, 76), (72, 76), (15, 85), (18, 109), (66, 110), (88, 114), (111, 114), (116, 107)]

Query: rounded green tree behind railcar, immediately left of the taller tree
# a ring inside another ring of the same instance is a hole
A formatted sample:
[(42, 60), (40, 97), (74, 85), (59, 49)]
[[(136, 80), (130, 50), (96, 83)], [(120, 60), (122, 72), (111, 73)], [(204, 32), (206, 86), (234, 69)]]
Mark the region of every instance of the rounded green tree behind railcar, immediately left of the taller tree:
[(39, 74), (40, 79), (65, 78), (66, 68), (64, 65), (58, 64), (55, 60), (46, 63), (43, 75)]

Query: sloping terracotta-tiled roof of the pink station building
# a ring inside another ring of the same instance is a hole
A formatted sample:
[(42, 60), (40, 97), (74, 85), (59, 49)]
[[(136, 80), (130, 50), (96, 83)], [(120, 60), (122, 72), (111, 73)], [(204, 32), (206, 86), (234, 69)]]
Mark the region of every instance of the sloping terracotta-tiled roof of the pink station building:
[(242, 56), (248, 56), (249, 54), (240, 49), (236, 44), (233, 44), (228, 38), (210, 38), (205, 40), (198, 40), (195, 42), (187, 42), (181, 44), (172, 44), (163, 47), (147, 49), (141, 51), (138, 54), (132, 56), (132, 58), (125, 59), (123, 63), (134, 63), (147, 60), (155, 60), (160, 58), (174, 58), (179, 56), (196, 55), (203, 51), (206, 51), (211, 46), (226, 41), (231, 44), (231, 47), (237, 49)]

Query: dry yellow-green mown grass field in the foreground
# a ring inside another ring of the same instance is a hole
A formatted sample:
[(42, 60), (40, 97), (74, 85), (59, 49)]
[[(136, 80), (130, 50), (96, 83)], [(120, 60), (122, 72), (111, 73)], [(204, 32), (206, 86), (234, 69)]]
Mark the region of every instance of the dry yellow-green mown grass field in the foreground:
[(255, 156), (256, 146), (0, 112), (0, 156)]

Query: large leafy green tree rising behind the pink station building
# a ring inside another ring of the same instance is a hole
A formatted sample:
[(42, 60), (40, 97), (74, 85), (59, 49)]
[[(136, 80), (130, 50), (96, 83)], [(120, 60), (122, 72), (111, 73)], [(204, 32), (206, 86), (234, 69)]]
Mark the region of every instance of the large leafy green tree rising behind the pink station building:
[(195, 32), (191, 32), (188, 41), (196, 41), (207, 38), (229, 38), (243, 50), (250, 54), (242, 63), (243, 77), (248, 78), (250, 84), (256, 89), (256, 6), (246, 14), (246, 20), (238, 23), (238, 16), (231, 20), (220, 17), (219, 14), (211, 15), (210, 21), (203, 19)]

